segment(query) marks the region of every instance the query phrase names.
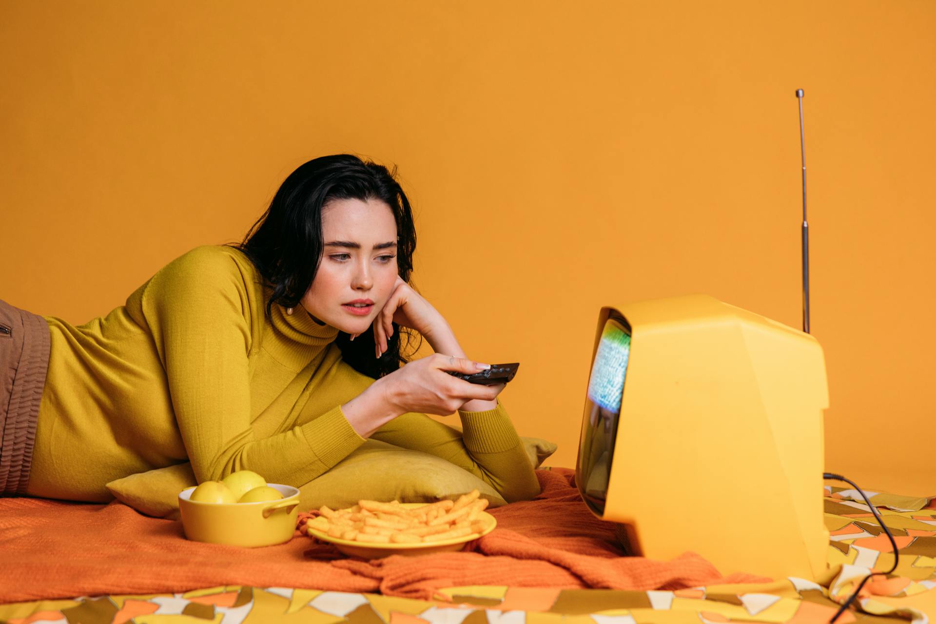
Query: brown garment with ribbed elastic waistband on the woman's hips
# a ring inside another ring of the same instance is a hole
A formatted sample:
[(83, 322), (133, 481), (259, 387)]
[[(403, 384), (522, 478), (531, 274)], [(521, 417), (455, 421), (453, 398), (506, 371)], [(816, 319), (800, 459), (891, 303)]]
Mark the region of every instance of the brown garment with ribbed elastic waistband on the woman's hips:
[(49, 343), (44, 318), (0, 299), (0, 496), (29, 483)]

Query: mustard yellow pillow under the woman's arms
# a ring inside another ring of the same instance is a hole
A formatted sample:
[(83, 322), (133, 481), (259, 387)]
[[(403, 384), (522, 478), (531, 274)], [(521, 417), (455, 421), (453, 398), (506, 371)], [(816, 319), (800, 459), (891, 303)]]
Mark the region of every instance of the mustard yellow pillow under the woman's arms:
[[(538, 468), (556, 450), (556, 444), (539, 438), (521, 438), (530, 462)], [(392, 474), (393, 478), (388, 478)], [(140, 513), (179, 518), (179, 492), (196, 486), (188, 462), (131, 474), (107, 484), (118, 501)], [(373, 501), (429, 502), (455, 499), (473, 489), (491, 507), (506, 504), (493, 487), (442, 457), (367, 440), (329, 472), (300, 486), (300, 511), (349, 507), (360, 499)]]

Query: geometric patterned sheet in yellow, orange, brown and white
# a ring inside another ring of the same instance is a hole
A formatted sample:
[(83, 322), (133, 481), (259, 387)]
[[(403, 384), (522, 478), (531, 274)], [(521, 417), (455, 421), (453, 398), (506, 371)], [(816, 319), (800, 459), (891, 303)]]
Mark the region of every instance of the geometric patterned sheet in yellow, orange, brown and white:
[[(936, 504), (871, 493), (900, 548), (896, 573), (874, 577), (847, 622), (929, 622), (936, 613)], [(436, 600), (302, 588), (228, 586), (183, 593), (109, 595), (0, 605), (10, 624), (300, 621), (314, 624), (638, 624), (826, 622), (870, 569), (893, 562), (890, 543), (857, 492), (826, 487), (831, 532), (827, 587), (788, 578), (768, 584), (674, 591), (508, 586), (444, 588)], [(830, 576), (832, 574), (830, 573)]]

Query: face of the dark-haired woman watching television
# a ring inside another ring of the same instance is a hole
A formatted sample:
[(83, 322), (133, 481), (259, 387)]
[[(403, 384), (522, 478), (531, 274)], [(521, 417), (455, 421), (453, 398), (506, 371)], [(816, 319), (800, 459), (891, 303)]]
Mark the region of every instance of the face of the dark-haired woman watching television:
[(322, 261), (302, 307), (331, 327), (361, 334), (371, 327), (397, 280), (393, 212), (379, 199), (331, 200), (322, 207), (322, 239)]

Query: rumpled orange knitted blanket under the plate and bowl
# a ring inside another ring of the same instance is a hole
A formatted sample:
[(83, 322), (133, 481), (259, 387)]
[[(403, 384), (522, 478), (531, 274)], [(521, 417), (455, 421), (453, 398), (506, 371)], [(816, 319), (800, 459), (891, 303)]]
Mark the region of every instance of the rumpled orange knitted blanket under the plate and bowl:
[[(240, 548), (190, 542), (179, 521), (107, 505), (0, 499), (0, 602), (182, 592), (223, 585), (377, 592), (440, 599), (438, 588), (675, 589), (753, 583), (723, 578), (705, 559), (622, 557), (611, 525), (585, 507), (568, 469), (537, 471), (534, 501), (489, 510), (498, 527), (462, 552), (348, 559), (297, 530), (286, 544)], [(300, 525), (312, 515), (300, 516)]]

